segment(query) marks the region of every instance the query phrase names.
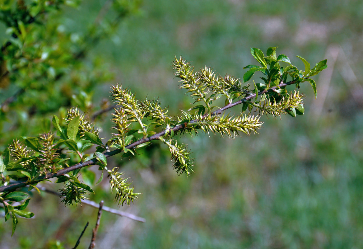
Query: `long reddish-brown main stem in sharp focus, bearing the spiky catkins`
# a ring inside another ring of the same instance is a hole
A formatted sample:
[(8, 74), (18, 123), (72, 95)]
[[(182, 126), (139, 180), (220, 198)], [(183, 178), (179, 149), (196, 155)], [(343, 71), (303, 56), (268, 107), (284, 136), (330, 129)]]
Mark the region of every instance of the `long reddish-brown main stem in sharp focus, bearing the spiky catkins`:
[[(276, 90), (278, 88), (281, 88), (281, 87), (285, 87), (287, 85), (294, 84), (295, 82), (296, 81), (289, 81), (289, 82), (286, 82), (286, 83), (280, 83), (277, 86), (273, 86), (273, 87), (271, 87), (271, 88), (269, 88), (267, 90), (263, 90), (263, 91), (258, 92), (257, 95), (261, 95), (261, 94), (264, 94), (264, 93), (271, 92), (271, 91)], [(245, 97), (245, 98), (243, 98), (241, 100), (238, 100), (236, 102), (229, 103), (228, 105), (222, 107), (221, 109), (218, 109), (216, 111), (213, 111), (213, 113), (211, 115), (214, 116), (214, 115), (221, 114), (223, 111), (225, 111), (225, 110), (227, 110), (227, 109), (229, 109), (229, 108), (231, 108), (233, 106), (240, 105), (240, 104), (242, 104), (242, 103), (244, 103), (244, 102), (246, 102), (249, 99), (252, 99), (254, 97), (256, 97), (256, 93), (251, 94), (251, 95), (248, 95), (247, 97)], [(202, 117), (202, 119), (206, 118), (207, 116), (208, 116), (208, 114), (205, 114)], [(194, 119), (194, 120), (189, 121), (189, 123), (195, 123), (197, 121), (198, 121), (198, 119)], [(179, 125), (171, 128), (170, 130), (173, 130), (174, 132), (176, 132), (176, 131), (180, 131), (180, 130), (182, 130), (184, 128), (185, 128), (184, 124), (179, 124)], [(164, 136), (165, 135), (165, 132), (166, 131), (167, 130), (163, 130), (163, 131), (160, 131), (160, 132), (158, 132), (158, 133), (156, 133), (156, 134), (154, 134), (152, 136), (149, 136), (147, 138), (139, 139), (136, 142), (127, 145), (126, 148), (132, 150), (132, 148), (138, 146), (139, 144), (143, 144), (143, 143), (149, 142), (151, 140), (159, 139), (160, 136)], [(123, 150), (117, 149), (117, 150), (105, 152), (103, 155), (105, 155), (106, 158), (108, 158), (110, 156), (119, 154), (121, 152), (123, 152)], [(97, 163), (98, 163), (97, 158), (93, 158), (93, 159), (91, 159), (91, 160), (89, 160), (87, 162), (81, 162), (81, 163), (74, 164), (73, 166), (70, 166), (68, 168), (64, 168), (64, 169), (59, 170), (59, 171), (57, 171), (55, 173), (48, 173), (46, 175), (40, 176), (40, 177), (38, 177), (36, 179), (36, 181), (37, 180), (42, 180), (42, 179), (50, 179), (50, 178), (57, 177), (57, 176), (63, 176), (64, 174), (67, 174), (67, 173), (69, 173), (71, 171), (78, 170), (80, 168), (83, 168), (83, 167), (86, 167), (86, 166), (90, 166), (90, 165), (94, 165), (94, 164), (97, 164)], [(7, 186), (1, 186), (0, 187), (0, 193), (1, 192), (5, 192), (5, 191), (12, 191), (14, 189), (21, 188), (21, 187), (25, 187), (28, 184), (32, 184), (32, 183), (28, 183), (26, 179), (21, 179), (21, 181), (17, 181), (15, 183), (9, 184)]]

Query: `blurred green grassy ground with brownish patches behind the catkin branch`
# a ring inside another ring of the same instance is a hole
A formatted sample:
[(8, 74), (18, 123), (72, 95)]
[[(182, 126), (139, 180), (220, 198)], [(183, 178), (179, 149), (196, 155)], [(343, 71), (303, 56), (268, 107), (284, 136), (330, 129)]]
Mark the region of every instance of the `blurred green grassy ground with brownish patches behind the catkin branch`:
[[(105, 2), (83, 1), (57, 18), (77, 34)], [(315, 77), (316, 100), (310, 85), (302, 85), (303, 116), (263, 117), (259, 134), (235, 140), (182, 136), (196, 159), (190, 177), (172, 172), (166, 148), (157, 143), (134, 160), (120, 164), (115, 156), (110, 164), (121, 165), (142, 193), (121, 209), (147, 221), (103, 212), (97, 247), (362, 248), (362, 23), (363, 1), (144, 1), (110, 39), (89, 50), (114, 73), (98, 82), (94, 103), (119, 82), (140, 99), (159, 96), (170, 114), (188, 109), (191, 98), (178, 89), (171, 66), (180, 55), (196, 68), (241, 78), (242, 68), (253, 64), (250, 47), (278, 46), (277, 54), (293, 64), (303, 67), (296, 55), (311, 64), (327, 58), (328, 69)], [(106, 138), (107, 119), (98, 120)], [(90, 199), (116, 207), (103, 183)], [(55, 241), (70, 248), (86, 221), (95, 223), (94, 208), (63, 207), (45, 193), (33, 198), (28, 209), (35, 219), (21, 219), (12, 238), (11, 222), (1, 219), (0, 248), (55, 248)], [(79, 248), (90, 237), (88, 228)]]

